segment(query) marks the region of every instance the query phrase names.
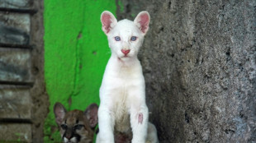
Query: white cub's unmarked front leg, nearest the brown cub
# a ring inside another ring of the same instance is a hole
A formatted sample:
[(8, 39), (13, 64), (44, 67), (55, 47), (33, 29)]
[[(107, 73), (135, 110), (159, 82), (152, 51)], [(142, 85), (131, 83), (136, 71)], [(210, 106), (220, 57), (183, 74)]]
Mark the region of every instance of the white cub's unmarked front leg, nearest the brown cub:
[(100, 129), (97, 134), (97, 143), (114, 143), (114, 122), (110, 111), (110, 106), (101, 103), (98, 109), (98, 127)]

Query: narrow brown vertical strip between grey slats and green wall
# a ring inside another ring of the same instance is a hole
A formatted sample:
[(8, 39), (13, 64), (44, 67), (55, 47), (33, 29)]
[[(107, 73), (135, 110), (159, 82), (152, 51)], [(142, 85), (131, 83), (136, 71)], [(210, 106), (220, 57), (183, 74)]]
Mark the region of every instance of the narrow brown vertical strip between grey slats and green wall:
[(45, 44), (44, 44), (44, 0), (34, 0), (33, 9), (36, 13), (31, 16), (31, 51), (32, 74), (35, 76), (34, 85), (31, 88), (33, 102), (33, 126), (32, 142), (44, 142), (44, 122), (49, 113), (50, 101), (45, 89)]

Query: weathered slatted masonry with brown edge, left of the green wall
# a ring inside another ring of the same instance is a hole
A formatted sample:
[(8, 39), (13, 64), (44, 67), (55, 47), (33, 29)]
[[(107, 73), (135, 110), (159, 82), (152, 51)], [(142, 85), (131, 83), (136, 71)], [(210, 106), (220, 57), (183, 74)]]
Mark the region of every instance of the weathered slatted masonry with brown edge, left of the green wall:
[(42, 142), (42, 1), (0, 1), (0, 142)]

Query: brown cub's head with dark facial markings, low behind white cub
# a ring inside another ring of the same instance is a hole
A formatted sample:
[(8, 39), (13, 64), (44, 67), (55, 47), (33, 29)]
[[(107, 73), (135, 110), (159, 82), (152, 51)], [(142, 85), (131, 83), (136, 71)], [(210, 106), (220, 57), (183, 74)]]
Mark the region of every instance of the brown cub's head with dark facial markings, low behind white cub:
[(67, 112), (62, 104), (55, 104), (55, 121), (64, 143), (92, 143), (97, 108), (97, 104), (91, 104), (84, 112), (77, 109)]

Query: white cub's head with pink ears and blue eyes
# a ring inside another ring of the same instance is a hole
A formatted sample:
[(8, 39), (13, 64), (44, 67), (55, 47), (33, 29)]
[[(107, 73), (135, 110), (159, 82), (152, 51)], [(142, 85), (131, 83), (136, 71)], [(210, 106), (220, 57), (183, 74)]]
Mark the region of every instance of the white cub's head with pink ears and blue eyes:
[(135, 21), (116, 21), (111, 12), (102, 12), (102, 30), (107, 35), (111, 53), (121, 60), (137, 58), (143, 39), (149, 30), (148, 12), (140, 12)]

